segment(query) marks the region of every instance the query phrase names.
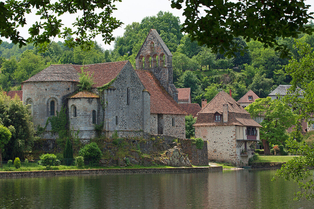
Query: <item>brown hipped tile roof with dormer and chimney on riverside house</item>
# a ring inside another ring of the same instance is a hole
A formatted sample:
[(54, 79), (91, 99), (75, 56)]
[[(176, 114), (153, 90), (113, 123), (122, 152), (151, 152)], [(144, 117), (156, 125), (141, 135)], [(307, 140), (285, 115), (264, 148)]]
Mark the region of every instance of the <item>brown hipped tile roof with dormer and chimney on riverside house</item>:
[[(223, 105), (228, 105), (228, 122), (223, 122)], [(222, 115), (220, 121), (215, 121), (215, 113)], [(193, 126), (218, 126), (218, 125), (239, 125), (262, 127), (251, 118), (251, 115), (244, 110), (228, 93), (219, 92), (207, 105), (198, 112), (196, 123)]]

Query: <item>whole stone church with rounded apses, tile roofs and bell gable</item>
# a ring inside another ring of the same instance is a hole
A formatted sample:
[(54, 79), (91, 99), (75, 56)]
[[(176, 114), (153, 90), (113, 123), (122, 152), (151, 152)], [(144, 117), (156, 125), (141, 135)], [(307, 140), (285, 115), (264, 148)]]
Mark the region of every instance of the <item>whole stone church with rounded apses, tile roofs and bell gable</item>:
[[(108, 137), (117, 131), (119, 137), (150, 133), (184, 138), (187, 113), (177, 104), (172, 54), (156, 30), (149, 31), (136, 63), (137, 70), (129, 61), (51, 65), (22, 83), (22, 98), (30, 104), (35, 126), (44, 127), (64, 107), (70, 130), (79, 130), (83, 139), (95, 137), (96, 125)], [(93, 75), (91, 91), (78, 90), (82, 70)], [(50, 123), (42, 138), (58, 137), (49, 131)]]

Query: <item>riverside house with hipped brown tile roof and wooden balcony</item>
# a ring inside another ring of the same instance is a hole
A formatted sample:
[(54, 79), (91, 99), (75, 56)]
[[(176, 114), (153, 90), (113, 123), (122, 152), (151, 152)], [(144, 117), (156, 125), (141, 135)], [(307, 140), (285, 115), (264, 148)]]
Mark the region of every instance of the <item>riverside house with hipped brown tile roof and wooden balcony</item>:
[(250, 114), (228, 93), (219, 92), (198, 112), (195, 138), (207, 140), (208, 158), (246, 165), (259, 142), (259, 128)]

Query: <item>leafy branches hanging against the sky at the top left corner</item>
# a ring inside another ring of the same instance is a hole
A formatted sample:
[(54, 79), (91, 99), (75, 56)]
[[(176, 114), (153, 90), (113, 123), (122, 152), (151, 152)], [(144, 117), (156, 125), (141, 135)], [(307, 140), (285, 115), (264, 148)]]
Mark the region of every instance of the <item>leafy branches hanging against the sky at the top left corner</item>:
[[(66, 39), (69, 36), (76, 36), (65, 41), (66, 46), (86, 46), (93, 45), (92, 39), (101, 34), (105, 44), (114, 40), (112, 31), (119, 27), (122, 22), (112, 17), (112, 12), (116, 10), (115, 2), (121, 0), (104, 1), (5, 1), (0, 3), (0, 36), (9, 38), (14, 44), (19, 43), (19, 47), (26, 45), (26, 42), (34, 42), (35, 46), (42, 45), (46, 48), (51, 43), (51, 38), (60, 37)], [(19, 27), (26, 24), (25, 15), (36, 8), (36, 21), (28, 30), (30, 38), (26, 39), (19, 34)], [(97, 10), (101, 9), (101, 12)], [(96, 12), (97, 11), (97, 12)], [(71, 28), (64, 27), (62, 14), (75, 14), (82, 12)], [(3, 40), (0, 40), (0, 43)]]

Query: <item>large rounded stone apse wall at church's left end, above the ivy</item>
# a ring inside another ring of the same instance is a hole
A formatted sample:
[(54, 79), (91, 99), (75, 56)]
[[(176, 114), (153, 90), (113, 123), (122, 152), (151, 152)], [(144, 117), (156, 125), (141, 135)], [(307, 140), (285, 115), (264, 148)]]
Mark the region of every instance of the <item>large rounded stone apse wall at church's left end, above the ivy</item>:
[[(23, 83), (23, 102), (33, 103), (33, 123), (35, 127), (44, 127), (48, 117), (50, 117), (50, 101), (55, 101), (55, 112), (60, 111), (62, 105), (67, 108), (67, 97), (72, 94), (77, 87), (76, 82), (53, 81), (53, 82), (26, 82)], [(51, 131), (48, 124), (47, 131)]]

